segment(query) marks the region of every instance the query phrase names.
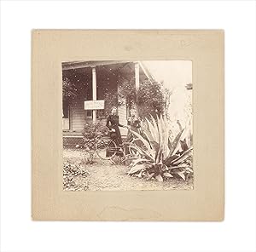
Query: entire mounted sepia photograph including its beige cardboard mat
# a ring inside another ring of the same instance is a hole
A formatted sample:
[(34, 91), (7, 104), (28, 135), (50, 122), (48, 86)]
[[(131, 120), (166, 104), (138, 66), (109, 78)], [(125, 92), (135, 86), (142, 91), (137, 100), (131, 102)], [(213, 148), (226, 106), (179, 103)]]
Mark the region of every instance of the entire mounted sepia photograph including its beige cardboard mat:
[(36, 30), (32, 45), (33, 220), (223, 220), (223, 31)]

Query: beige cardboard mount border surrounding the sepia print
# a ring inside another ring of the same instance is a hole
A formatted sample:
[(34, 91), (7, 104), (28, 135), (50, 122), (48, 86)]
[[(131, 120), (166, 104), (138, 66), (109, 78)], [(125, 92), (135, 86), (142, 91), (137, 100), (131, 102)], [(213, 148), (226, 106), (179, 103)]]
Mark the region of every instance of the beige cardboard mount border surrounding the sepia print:
[[(62, 190), (61, 62), (192, 60), (194, 190)], [(33, 30), (32, 220), (223, 221), (224, 31)]]

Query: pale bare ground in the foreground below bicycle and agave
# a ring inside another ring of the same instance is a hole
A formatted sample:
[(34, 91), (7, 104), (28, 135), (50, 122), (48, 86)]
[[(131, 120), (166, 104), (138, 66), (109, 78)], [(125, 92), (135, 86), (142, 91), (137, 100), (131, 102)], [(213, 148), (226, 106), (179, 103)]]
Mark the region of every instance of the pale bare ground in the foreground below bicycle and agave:
[(86, 164), (82, 152), (78, 150), (64, 150), (64, 162), (82, 163), (89, 175), (85, 178), (77, 177), (76, 183), (82, 183), (83, 188), (90, 191), (127, 191), (127, 190), (170, 190), (192, 189), (192, 180), (171, 179), (164, 182), (145, 180), (127, 175), (125, 165), (112, 164), (96, 158), (96, 163)]

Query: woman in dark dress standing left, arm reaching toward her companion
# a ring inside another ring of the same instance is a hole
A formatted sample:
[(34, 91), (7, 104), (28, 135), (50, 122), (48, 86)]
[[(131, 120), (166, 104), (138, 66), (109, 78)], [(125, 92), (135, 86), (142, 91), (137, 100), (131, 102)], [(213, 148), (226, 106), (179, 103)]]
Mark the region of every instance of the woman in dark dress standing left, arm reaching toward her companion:
[(127, 126), (119, 123), (119, 116), (117, 116), (116, 111), (117, 111), (116, 107), (113, 106), (111, 109), (111, 114), (107, 118), (106, 126), (108, 127), (108, 129), (110, 131), (110, 138), (112, 140), (114, 140), (118, 146), (121, 146), (122, 145), (122, 137), (120, 134), (119, 127), (127, 128)]

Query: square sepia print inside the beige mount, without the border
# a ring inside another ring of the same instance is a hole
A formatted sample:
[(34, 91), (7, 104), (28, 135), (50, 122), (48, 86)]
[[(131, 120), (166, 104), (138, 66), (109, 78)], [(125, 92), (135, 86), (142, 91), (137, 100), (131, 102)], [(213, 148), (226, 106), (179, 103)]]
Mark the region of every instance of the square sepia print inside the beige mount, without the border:
[(62, 62), (63, 190), (193, 189), (191, 60)]

